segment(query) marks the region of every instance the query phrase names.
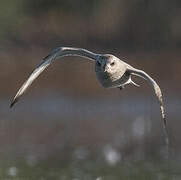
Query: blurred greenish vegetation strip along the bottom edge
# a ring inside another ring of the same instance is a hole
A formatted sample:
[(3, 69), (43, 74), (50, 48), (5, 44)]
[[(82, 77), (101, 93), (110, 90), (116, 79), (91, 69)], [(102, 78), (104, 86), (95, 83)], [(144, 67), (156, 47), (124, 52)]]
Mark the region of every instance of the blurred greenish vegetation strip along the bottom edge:
[(36, 165), (28, 165), (25, 160), (10, 164), (11, 166), (6, 164), (0, 168), (1, 179), (169, 180), (181, 178), (181, 166), (167, 161), (123, 162), (116, 166), (109, 166), (105, 162), (93, 160), (67, 162), (60, 159), (49, 159), (42, 160)]

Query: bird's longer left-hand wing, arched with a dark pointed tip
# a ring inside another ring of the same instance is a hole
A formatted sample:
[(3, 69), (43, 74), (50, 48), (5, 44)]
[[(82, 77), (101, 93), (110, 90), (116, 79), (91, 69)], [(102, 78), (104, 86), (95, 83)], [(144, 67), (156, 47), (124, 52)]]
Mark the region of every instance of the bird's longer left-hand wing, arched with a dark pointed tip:
[(96, 60), (98, 54), (90, 52), (82, 48), (73, 48), (73, 47), (59, 47), (53, 50), (48, 56), (43, 58), (39, 66), (32, 72), (29, 78), (24, 82), (21, 88), (18, 90), (16, 96), (11, 102), (10, 107), (12, 107), (19, 98), (24, 94), (28, 87), (33, 83), (33, 81), (56, 59), (63, 56), (81, 56), (91, 60)]

